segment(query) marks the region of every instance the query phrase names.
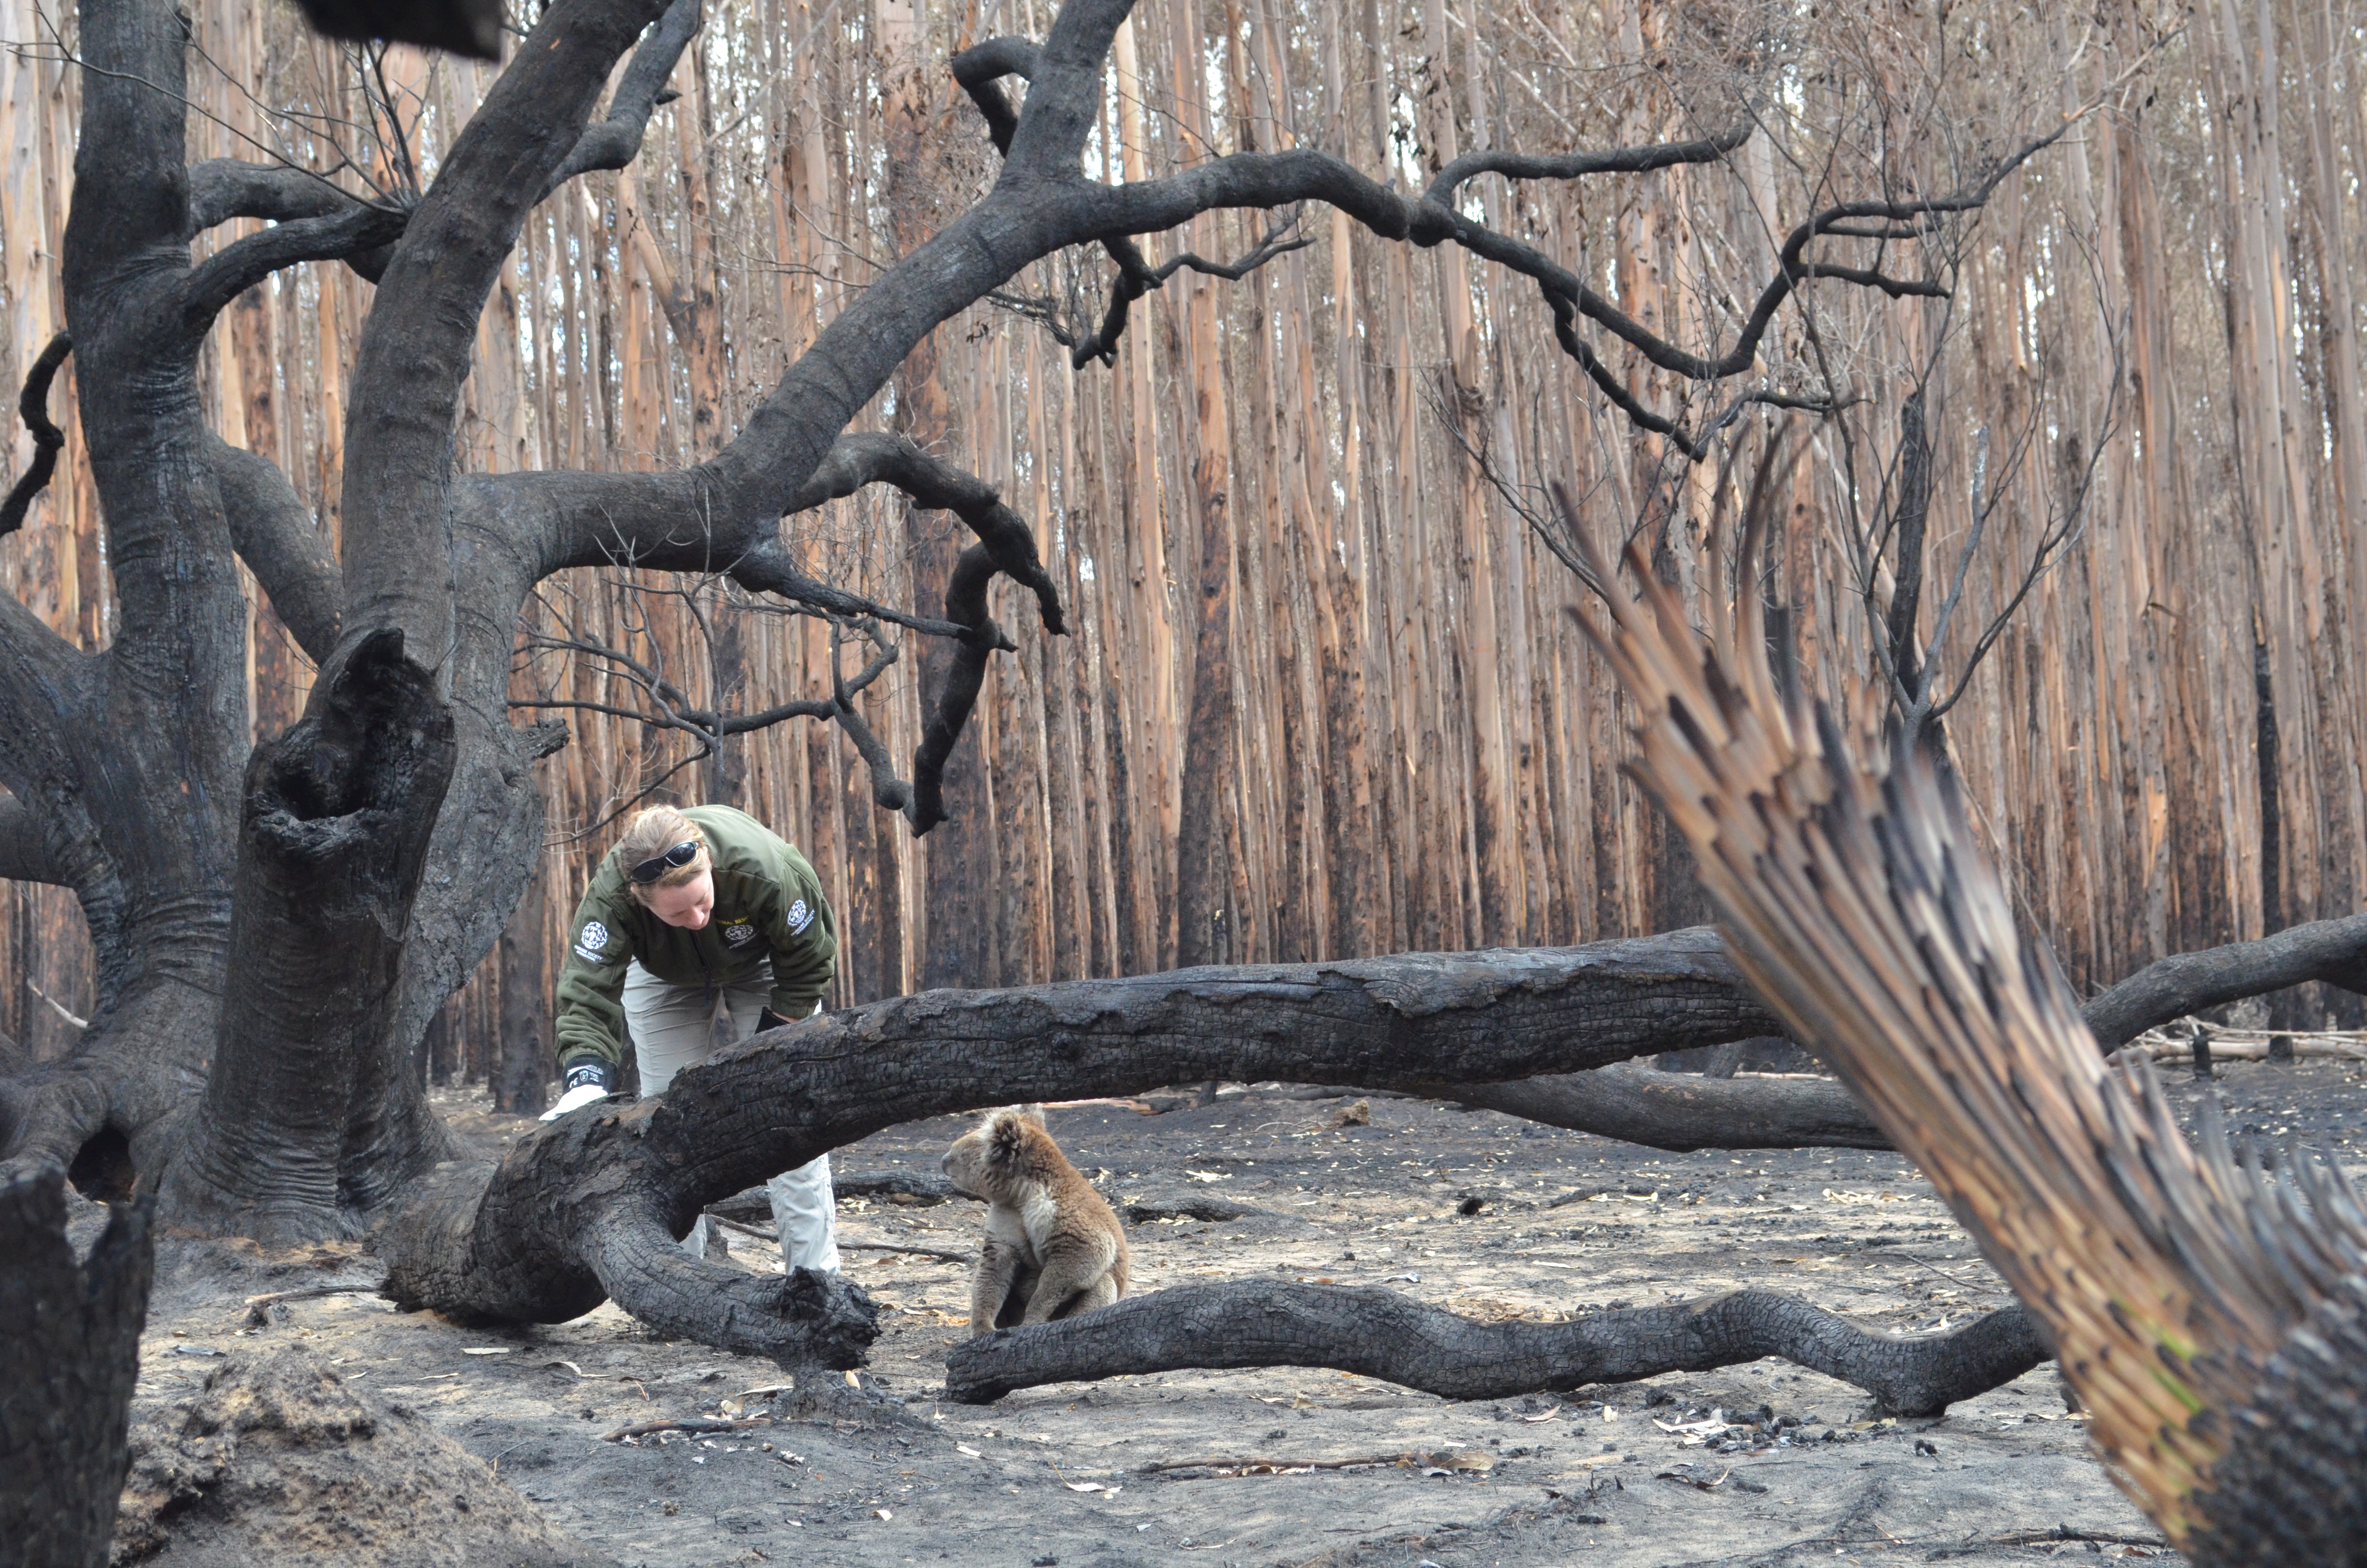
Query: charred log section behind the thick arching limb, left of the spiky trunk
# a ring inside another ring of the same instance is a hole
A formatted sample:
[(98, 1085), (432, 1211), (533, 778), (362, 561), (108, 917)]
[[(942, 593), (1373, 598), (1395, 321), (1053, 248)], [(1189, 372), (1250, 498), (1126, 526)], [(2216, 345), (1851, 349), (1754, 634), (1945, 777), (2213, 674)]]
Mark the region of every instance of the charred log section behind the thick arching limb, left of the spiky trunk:
[(1621, 1061), (1593, 1073), (1456, 1090), (1468, 1106), (1645, 1149), (1889, 1149), (1837, 1080), (1702, 1078)]

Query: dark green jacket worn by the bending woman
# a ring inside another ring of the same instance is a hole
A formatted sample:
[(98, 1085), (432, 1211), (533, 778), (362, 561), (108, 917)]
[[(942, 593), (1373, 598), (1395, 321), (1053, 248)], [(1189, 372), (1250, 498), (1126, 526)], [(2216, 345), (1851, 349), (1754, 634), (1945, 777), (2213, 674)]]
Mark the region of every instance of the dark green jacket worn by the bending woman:
[(802, 1018), (831, 988), (838, 921), (805, 855), (743, 810), (691, 805), (715, 867), (715, 914), (698, 931), (667, 926), (625, 881), (615, 850), (568, 926), (559, 971), (559, 1068), (625, 1059), (625, 964), (672, 985), (746, 985), (772, 959), (772, 1011)]

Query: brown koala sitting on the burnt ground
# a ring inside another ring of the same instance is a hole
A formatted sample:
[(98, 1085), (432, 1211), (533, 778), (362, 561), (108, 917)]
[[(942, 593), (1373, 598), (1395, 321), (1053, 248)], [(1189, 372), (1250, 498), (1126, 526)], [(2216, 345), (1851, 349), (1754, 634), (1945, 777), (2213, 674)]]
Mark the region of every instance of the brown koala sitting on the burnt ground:
[(944, 1177), (987, 1203), (970, 1274), (970, 1336), (1046, 1324), (1127, 1293), (1127, 1232), (1044, 1130), (1041, 1113), (997, 1111), (944, 1151)]

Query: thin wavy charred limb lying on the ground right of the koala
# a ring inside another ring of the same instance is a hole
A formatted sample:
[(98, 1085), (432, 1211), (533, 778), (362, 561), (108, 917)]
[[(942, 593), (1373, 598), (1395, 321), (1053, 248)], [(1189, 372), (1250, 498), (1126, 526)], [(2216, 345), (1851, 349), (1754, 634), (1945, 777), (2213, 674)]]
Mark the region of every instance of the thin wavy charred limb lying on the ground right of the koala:
[(989, 1405), (1039, 1383), (1186, 1367), (1333, 1367), (1446, 1400), (1501, 1400), (1768, 1355), (1856, 1383), (1891, 1414), (1936, 1416), (2055, 1350), (2019, 1305), (1948, 1334), (1889, 1338), (1775, 1291), (1489, 1324), (1380, 1286), (1245, 1281), (1155, 1291), (966, 1341), (944, 1357), (944, 1397)]

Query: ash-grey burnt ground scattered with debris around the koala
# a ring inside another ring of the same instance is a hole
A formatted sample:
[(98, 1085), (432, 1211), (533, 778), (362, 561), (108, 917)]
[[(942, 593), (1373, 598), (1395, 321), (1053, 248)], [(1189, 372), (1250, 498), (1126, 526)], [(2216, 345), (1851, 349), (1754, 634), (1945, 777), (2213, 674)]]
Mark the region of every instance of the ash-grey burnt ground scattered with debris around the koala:
[[(2199, 1099), (2185, 1073), (2175, 1080), (2178, 1099)], [(2367, 1071), (2355, 1063), (2227, 1063), (2220, 1094), (2232, 1127), (2367, 1158)], [(438, 1099), (485, 1151), (528, 1125), (488, 1113), (476, 1092)], [(1366, 1101), (1368, 1125), (1340, 1125), (1354, 1104), (1233, 1090), (1160, 1116), (1053, 1108), (1051, 1130), (1112, 1203), (1221, 1196), (1255, 1210), (1134, 1225), (1136, 1293), (1281, 1274), (1539, 1319), (1766, 1286), (1898, 1334), (2007, 1303), (1929, 1184), (1889, 1153), (1666, 1156), (1389, 1097)], [(892, 1127), (838, 1151), (836, 1165), (935, 1175), (963, 1127)], [(1475, 1215), (1460, 1213), (1470, 1199)], [(843, 1244), (966, 1253), (982, 1210), (840, 1199), (838, 1215)], [(736, 1262), (779, 1267), (772, 1246), (729, 1239)], [(225, 1279), (220, 1251), (201, 1260), (170, 1241), (135, 1419), (187, 1400), (211, 1350), (301, 1345), (350, 1388), (492, 1461), (594, 1554), (634, 1568), (2178, 1561), (2088, 1454), (2052, 1364), (1939, 1421), (1870, 1419), (1856, 1388), (1775, 1360), (1484, 1402), (1266, 1369), (1063, 1383), (961, 1407), (935, 1395), (944, 1350), (966, 1334), (968, 1270), (918, 1253), (845, 1260), (885, 1310), (871, 1376), (904, 1400), (904, 1424), (613, 1442), (625, 1426), (760, 1412), (753, 1390), (779, 1374), (656, 1341), (613, 1305), (556, 1326), (466, 1329), (357, 1293), (291, 1300), (270, 1326), (241, 1329), (244, 1293), (367, 1274), (367, 1260), (350, 1248), (249, 1255)], [(1763, 1407), (1797, 1421), (1778, 1445), (1702, 1440), (1711, 1412), (1756, 1421)], [(1666, 1431), (1688, 1424), (1697, 1431)], [(1389, 1454), (1423, 1459), (1299, 1469)], [(1212, 1464), (1146, 1469), (1184, 1459)], [(1238, 1461), (1281, 1473), (1240, 1473)], [(149, 1561), (170, 1568), (173, 1556)]]

